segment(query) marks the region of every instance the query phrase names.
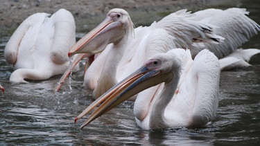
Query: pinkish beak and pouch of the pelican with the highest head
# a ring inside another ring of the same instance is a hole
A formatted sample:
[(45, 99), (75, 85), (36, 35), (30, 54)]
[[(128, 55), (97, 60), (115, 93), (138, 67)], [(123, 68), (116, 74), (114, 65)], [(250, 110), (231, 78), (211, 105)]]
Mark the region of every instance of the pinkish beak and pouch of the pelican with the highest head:
[(77, 53), (100, 53), (107, 44), (116, 42), (116, 40), (125, 35), (125, 30), (122, 29), (122, 26), (121, 22), (114, 21), (112, 17), (107, 16), (101, 24), (74, 44), (68, 53), (69, 57)]

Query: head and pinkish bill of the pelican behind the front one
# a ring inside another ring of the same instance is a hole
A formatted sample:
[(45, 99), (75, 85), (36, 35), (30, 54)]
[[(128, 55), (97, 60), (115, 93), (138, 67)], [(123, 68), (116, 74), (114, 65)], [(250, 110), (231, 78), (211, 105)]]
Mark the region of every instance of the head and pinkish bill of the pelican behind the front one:
[(69, 57), (77, 53), (100, 53), (110, 43), (117, 44), (125, 36), (133, 32), (133, 24), (126, 12), (114, 8), (107, 13), (107, 17), (92, 31), (81, 38), (69, 51)]

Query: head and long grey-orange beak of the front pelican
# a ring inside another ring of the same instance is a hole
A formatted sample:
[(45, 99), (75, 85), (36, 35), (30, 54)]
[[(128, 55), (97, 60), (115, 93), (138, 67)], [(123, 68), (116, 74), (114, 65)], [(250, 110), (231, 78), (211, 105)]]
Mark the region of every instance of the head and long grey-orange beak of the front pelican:
[(109, 91), (101, 95), (92, 104), (76, 117), (75, 122), (103, 102), (83, 123), (80, 129), (83, 129), (89, 122), (103, 115), (121, 102), (128, 100), (136, 93), (155, 86), (162, 82), (171, 82), (173, 77), (179, 77), (181, 69), (180, 60), (172, 53), (161, 53), (154, 55), (144, 66), (137, 69), (134, 73), (116, 84)]

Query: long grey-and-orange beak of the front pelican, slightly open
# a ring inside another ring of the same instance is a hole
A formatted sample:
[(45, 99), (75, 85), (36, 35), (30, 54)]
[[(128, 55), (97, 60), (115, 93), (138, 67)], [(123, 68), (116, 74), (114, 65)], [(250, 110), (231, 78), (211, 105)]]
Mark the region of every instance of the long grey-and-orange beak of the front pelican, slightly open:
[[(170, 75), (170, 76), (169, 76)], [(159, 70), (150, 70), (146, 65), (139, 68), (135, 73), (132, 73), (124, 80), (116, 84), (109, 91), (101, 95), (100, 98), (95, 100), (87, 107), (79, 116), (75, 118), (75, 122), (85, 116), (89, 111), (92, 111), (98, 104), (103, 102), (94, 112), (85, 120), (80, 129), (83, 129), (89, 122), (102, 116), (110, 109), (116, 107), (121, 102), (128, 100), (132, 95), (139, 93), (145, 89), (155, 86), (156, 84), (164, 82), (168, 77), (172, 77), (172, 73), (163, 74)]]

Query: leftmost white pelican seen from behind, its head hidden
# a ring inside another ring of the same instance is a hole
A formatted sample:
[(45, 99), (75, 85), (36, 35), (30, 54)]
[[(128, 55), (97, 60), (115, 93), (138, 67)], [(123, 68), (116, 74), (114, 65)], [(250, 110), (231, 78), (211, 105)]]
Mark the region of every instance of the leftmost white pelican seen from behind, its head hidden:
[(6, 44), (4, 56), (15, 70), (10, 82), (46, 80), (64, 73), (69, 67), (67, 53), (75, 42), (76, 26), (71, 12), (60, 9), (53, 15), (31, 15)]

